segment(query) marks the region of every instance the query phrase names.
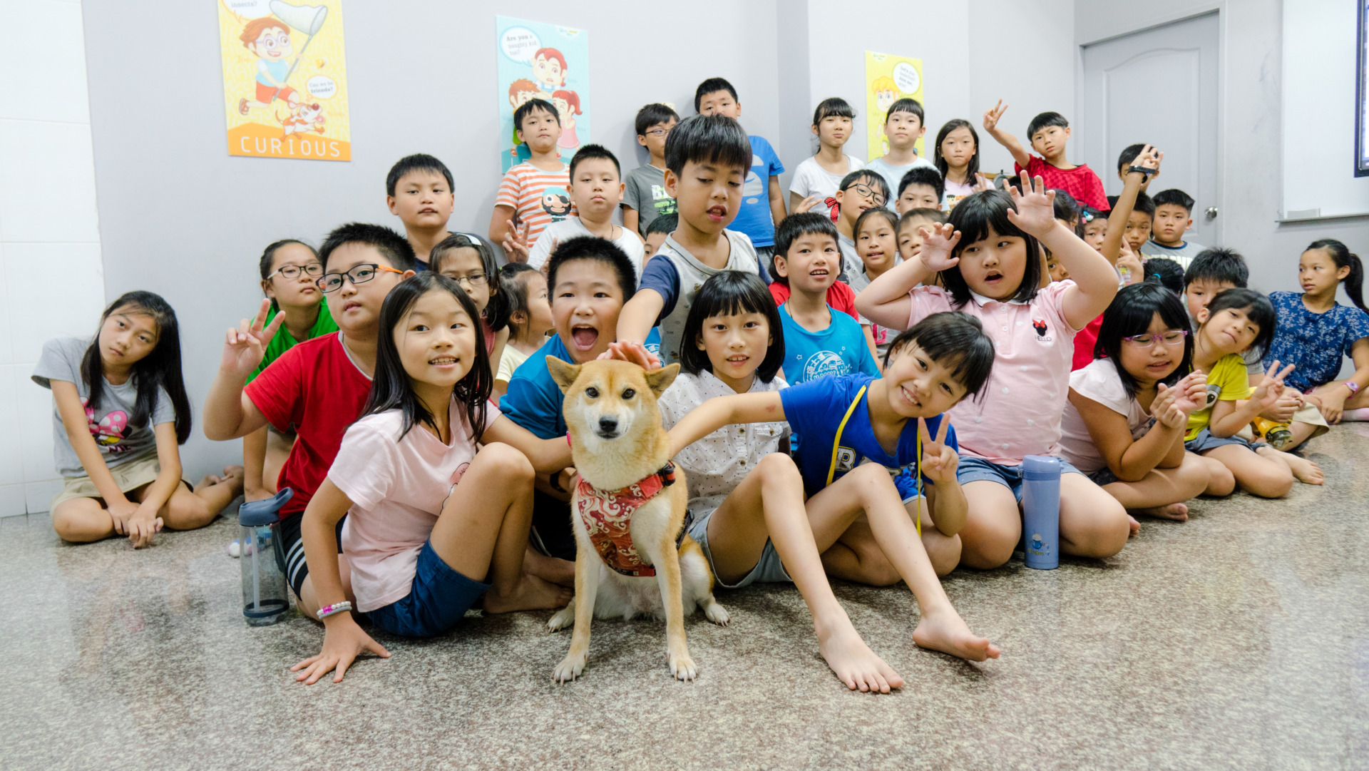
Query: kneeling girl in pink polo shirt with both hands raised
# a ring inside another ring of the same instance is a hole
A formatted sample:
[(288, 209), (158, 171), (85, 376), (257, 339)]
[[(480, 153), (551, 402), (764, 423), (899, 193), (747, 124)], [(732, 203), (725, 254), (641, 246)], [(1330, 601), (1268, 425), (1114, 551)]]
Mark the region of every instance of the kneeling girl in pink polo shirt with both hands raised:
[[(856, 299), (876, 325), (908, 329), (939, 311), (980, 320), (994, 341), (994, 368), (979, 400), (951, 409), (962, 455), (957, 477), (969, 501), (961, 564), (994, 568), (1021, 535), (1021, 462), (1060, 456), (1075, 333), (1117, 293), (1108, 260), (1054, 219), (1054, 193), (1023, 174), (1021, 189), (964, 199), (950, 222), (923, 229), (917, 259), (876, 278)], [(1069, 279), (1040, 286), (1040, 249)], [(939, 273), (945, 289), (923, 286)], [(1116, 498), (1064, 463), (1060, 540), (1068, 555), (1108, 557), (1127, 544), (1135, 520)]]

